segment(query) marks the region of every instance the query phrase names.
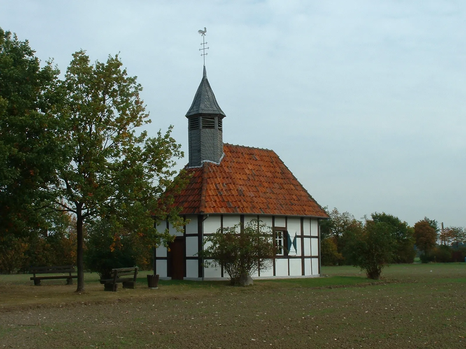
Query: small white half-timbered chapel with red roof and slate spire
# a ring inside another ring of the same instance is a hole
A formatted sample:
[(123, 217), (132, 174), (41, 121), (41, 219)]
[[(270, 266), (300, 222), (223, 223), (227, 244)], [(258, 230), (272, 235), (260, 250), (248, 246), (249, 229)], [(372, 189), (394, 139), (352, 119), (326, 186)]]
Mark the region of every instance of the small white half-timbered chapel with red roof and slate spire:
[(157, 248), (154, 274), (161, 279), (222, 280), (222, 268), (204, 266), (197, 253), (204, 239), (219, 228), (260, 219), (273, 230), (279, 253), (272, 267), (260, 268), (253, 278), (293, 278), (320, 275), (320, 219), (322, 207), (303, 188), (273, 150), (223, 143), (225, 113), (219, 107), (206, 67), (191, 107), (186, 113), (191, 175), (184, 190), (175, 195), (189, 220), (178, 232), (168, 222), (175, 240), (170, 248)]

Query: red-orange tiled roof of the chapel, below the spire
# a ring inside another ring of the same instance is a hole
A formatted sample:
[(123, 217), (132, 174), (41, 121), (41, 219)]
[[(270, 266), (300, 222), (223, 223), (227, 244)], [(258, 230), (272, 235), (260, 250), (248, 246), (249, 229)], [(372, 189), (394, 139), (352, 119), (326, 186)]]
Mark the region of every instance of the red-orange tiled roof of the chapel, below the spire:
[(219, 165), (185, 168), (192, 175), (175, 195), (181, 215), (238, 213), (328, 218), (273, 150), (224, 144)]

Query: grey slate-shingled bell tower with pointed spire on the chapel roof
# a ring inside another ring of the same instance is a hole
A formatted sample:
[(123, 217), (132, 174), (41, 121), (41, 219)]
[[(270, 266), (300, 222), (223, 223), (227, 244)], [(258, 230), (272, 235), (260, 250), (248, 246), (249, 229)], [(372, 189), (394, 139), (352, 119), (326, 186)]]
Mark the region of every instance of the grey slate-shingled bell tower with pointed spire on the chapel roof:
[(226, 115), (207, 80), (206, 66), (185, 116), (188, 118), (188, 166), (199, 167), (204, 162), (220, 163), (223, 157), (222, 119)]

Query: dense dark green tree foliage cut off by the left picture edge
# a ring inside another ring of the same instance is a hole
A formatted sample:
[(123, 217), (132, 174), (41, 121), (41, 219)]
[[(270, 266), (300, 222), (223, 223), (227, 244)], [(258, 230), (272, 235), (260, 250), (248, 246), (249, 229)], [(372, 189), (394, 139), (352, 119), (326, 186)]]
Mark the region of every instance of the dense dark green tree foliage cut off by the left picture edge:
[(41, 68), (27, 40), (0, 28), (0, 72), (0, 245), (19, 248), (13, 240), (43, 224), (37, 208), (62, 159), (54, 117), (59, 71), (51, 62)]

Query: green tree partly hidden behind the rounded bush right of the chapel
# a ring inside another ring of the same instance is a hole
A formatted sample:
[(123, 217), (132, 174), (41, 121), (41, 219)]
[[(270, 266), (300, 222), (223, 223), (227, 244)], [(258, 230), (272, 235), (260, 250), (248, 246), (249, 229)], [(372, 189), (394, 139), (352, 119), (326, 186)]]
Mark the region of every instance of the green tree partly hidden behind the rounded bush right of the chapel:
[(398, 217), (394, 215), (386, 214), (385, 212), (377, 213), (374, 212), (370, 215), (372, 220), (375, 222), (385, 222), (389, 224), (393, 229), (393, 237), (397, 241), (397, 247), (395, 250), (394, 260), (395, 263), (412, 263), (416, 256), (416, 250), (414, 249), (414, 229), (411, 228), (405, 221), (400, 221)]

